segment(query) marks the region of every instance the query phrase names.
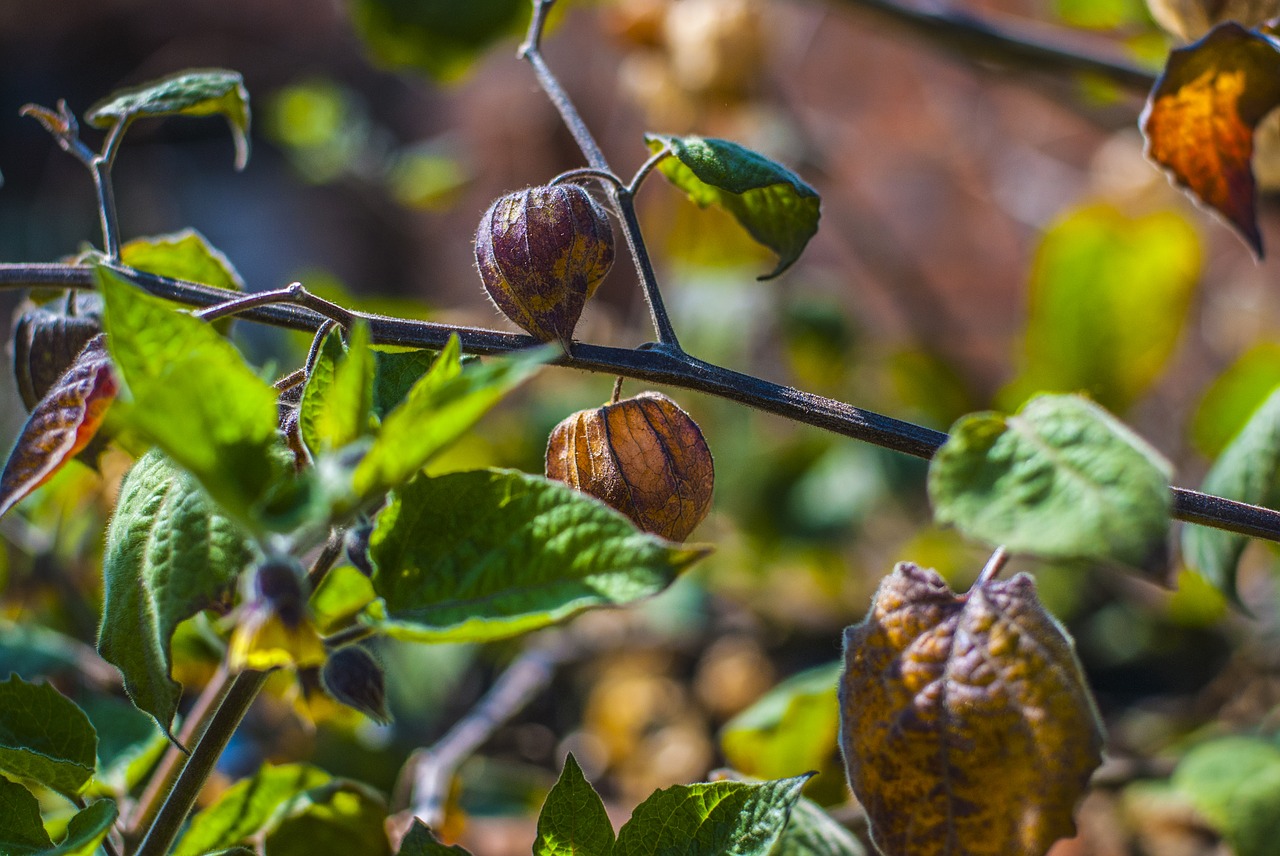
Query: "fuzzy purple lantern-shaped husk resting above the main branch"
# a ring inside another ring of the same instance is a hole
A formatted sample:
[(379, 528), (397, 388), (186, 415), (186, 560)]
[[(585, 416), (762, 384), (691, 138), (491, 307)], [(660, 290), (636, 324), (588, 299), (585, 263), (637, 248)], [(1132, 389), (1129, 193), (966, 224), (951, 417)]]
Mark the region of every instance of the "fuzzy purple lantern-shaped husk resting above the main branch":
[(613, 265), (604, 209), (577, 184), (503, 196), (476, 229), (476, 266), (502, 312), (543, 342), (566, 345)]

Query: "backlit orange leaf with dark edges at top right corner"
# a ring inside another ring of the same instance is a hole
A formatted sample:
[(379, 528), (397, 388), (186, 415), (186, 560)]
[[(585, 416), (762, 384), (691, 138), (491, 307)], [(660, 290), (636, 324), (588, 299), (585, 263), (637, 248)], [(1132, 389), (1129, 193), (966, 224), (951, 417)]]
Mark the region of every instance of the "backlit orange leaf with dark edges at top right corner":
[(1147, 156), (1262, 256), (1253, 132), (1280, 106), (1280, 44), (1224, 22), (1169, 55), (1147, 100)]

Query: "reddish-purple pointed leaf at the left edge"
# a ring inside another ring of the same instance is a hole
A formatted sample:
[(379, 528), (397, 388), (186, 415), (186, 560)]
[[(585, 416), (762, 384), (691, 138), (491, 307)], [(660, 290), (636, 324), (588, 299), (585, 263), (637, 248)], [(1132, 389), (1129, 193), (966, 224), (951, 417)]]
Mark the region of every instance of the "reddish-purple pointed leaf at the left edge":
[(116, 389), (106, 338), (99, 334), (27, 417), (0, 473), (0, 517), (90, 444)]

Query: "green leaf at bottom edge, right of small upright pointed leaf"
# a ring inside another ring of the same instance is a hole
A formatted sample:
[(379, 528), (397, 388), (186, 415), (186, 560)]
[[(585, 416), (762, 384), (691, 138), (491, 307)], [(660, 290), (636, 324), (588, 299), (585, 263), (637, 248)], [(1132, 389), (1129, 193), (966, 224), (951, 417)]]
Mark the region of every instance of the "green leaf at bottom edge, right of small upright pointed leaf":
[(767, 856), (809, 777), (676, 784), (636, 806), (616, 856)]

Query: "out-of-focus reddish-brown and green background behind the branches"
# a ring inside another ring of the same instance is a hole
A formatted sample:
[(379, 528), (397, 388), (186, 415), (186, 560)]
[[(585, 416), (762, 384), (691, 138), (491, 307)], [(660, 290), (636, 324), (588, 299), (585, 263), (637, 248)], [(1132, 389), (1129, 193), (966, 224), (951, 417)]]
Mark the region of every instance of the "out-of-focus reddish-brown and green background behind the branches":
[[(1175, 461), (1188, 486), (1280, 384), (1275, 262), (1254, 264), (1144, 162), (1139, 95), (970, 64), (856, 3), (561, 5), (548, 61), (621, 174), (646, 157), (645, 131), (696, 132), (765, 152), (823, 194), (818, 237), (765, 284), (755, 278), (771, 260), (730, 218), (659, 178), (645, 188), (645, 234), (696, 356), (940, 430), (1034, 390), (1083, 389)], [(1135, 0), (966, 8), (1096, 31), (1139, 61), (1161, 63), (1169, 46)], [(23, 104), (67, 99), (82, 113), (120, 86), (227, 67), (252, 97), (248, 168), (230, 170), (218, 120), (140, 123), (116, 169), (125, 239), (193, 226), (252, 290), (301, 279), (360, 308), (504, 328), (474, 270), (479, 214), (581, 165), (515, 59), (527, 12), (526, 0), (3, 4), (0, 260), (56, 260), (97, 228), (82, 168), (18, 118)], [(1274, 211), (1263, 224), (1276, 232)], [(15, 305), (0, 293), (5, 334)], [(236, 337), (266, 372), (298, 365), (308, 343), (250, 325)], [(630, 265), (600, 288), (579, 338), (650, 338)], [(540, 471), (550, 427), (611, 385), (547, 371), (435, 468)], [(809, 793), (845, 804), (831, 670), (841, 628), (896, 560), (936, 567), (955, 587), (983, 564), (980, 546), (931, 525), (922, 462), (664, 392), (716, 454), (716, 508), (696, 535), (716, 553), (654, 603), (567, 630), (582, 655), (461, 770), (453, 832), (477, 852), (527, 848), (530, 812), (567, 749), (620, 816), (726, 763), (762, 777), (820, 769)], [(22, 418), (5, 376), (5, 444)], [(111, 453), (101, 475), (69, 468), (0, 525), (0, 672), (51, 674), (73, 694), (116, 686), (83, 642), (127, 466)], [(1245, 557), (1252, 615), (1185, 569), (1160, 587), (1115, 568), (1015, 560), (1024, 568), (1076, 637), (1112, 755), (1158, 759), (1204, 734), (1274, 727), (1270, 548)], [(175, 677), (207, 679), (216, 632), (207, 617), (182, 628)], [(228, 751), (225, 781), (262, 757), (312, 759), (392, 792), (404, 755), (439, 737), (518, 647), (381, 645), (390, 727), (316, 706), (312, 725), (282, 677)], [(1172, 834), (1185, 800), (1152, 793), (1098, 791), (1082, 814), (1084, 843), (1064, 852), (1126, 852), (1105, 842)], [(1196, 823), (1211, 844), (1212, 824)]]

